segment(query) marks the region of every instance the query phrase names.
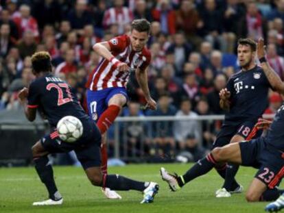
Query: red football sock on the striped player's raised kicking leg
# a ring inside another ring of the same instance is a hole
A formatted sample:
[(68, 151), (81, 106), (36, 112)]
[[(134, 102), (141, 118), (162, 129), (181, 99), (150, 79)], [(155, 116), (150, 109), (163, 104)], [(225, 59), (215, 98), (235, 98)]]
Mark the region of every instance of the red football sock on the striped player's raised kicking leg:
[(99, 117), (97, 127), (99, 128), (99, 131), (101, 131), (101, 134), (104, 134), (110, 125), (113, 124), (113, 121), (115, 121), (115, 118), (117, 118), (119, 111), (120, 108), (118, 105), (109, 105), (104, 113)]

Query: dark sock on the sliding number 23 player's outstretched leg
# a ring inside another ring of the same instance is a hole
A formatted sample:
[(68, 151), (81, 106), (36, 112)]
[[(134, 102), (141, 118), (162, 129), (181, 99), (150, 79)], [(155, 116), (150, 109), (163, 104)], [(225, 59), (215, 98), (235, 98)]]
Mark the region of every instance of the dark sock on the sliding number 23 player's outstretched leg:
[(187, 184), (189, 181), (204, 175), (211, 171), (211, 169), (215, 166), (216, 162), (213, 158), (213, 155), (209, 153), (205, 158), (198, 160), (196, 164), (194, 164), (185, 175), (181, 175), (177, 178), (178, 185), (180, 187)]

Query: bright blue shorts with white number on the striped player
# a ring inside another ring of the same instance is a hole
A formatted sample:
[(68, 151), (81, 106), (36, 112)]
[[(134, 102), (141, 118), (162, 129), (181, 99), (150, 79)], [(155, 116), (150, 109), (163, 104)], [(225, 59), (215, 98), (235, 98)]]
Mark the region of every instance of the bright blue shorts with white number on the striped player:
[(87, 90), (88, 115), (94, 121), (97, 121), (97, 118), (108, 108), (108, 101), (117, 94), (124, 95), (128, 100), (126, 88), (124, 87), (106, 88), (98, 91)]

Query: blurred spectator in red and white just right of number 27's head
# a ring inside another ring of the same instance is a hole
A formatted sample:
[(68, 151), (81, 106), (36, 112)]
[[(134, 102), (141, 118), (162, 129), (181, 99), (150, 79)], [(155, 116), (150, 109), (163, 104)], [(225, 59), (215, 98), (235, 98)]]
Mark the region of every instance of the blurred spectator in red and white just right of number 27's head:
[(60, 73), (73, 73), (77, 71), (77, 63), (75, 62), (75, 51), (69, 49), (66, 51), (65, 61), (56, 67), (55, 74), (60, 75)]

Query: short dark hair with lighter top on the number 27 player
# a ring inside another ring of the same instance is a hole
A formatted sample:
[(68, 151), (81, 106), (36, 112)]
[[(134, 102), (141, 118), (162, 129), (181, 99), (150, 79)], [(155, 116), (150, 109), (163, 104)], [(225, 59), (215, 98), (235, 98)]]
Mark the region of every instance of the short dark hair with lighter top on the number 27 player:
[(51, 72), (51, 56), (47, 51), (39, 51), (32, 55), (34, 73)]

